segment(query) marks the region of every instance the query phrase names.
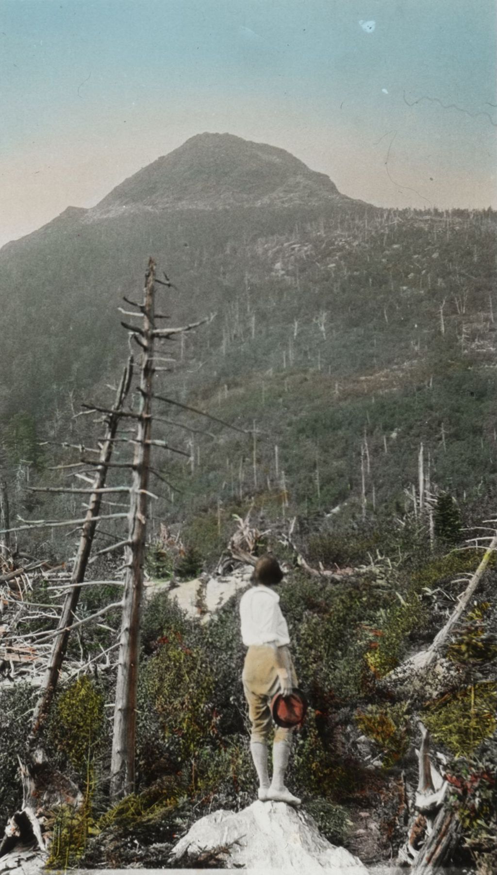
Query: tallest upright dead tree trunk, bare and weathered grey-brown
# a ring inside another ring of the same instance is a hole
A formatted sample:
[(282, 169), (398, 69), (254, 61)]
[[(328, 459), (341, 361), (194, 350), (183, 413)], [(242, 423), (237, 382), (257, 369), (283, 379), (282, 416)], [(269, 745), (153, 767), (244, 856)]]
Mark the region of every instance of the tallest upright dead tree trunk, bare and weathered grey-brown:
[(143, 555), (147, 526), (152, 378), (154, 375), (155, 262), (150, 258), (145, 278), (142, 327), (135, 339), (142, 347), (140, 409), (135, 441), (129, 507), (126, 575), (122, 602), (121, 639), (114, 705), (111, 796), (119, 799), (135, 788), (136, 684), (143, 589)]

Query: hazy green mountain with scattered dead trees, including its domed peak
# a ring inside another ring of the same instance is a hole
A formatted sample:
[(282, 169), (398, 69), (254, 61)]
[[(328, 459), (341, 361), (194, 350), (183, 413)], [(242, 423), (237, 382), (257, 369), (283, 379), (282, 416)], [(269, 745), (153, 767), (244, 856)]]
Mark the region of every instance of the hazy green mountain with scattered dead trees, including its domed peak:
[(260, 490), (356, 500), (365, 435), (369, 505), (404, 501), (421, 441), (439, 486), (494, 488), (494, 254), (494, 213), (381, 210), (284, 151), (193, 137), (0, 252), (2, 421), (103, 392), (127, 354), (117, 307), (154, 255), (178, 287), (162, 311), (217, 313), (157, 381), (260, 433), (255, 472), (231, 433), (168, 460), (189, 512)]

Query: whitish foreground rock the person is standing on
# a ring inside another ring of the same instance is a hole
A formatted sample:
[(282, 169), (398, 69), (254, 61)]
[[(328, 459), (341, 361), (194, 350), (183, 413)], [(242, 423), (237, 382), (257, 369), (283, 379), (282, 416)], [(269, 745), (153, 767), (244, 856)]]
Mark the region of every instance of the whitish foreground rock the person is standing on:
[(252, 802), (243, 811), (215, 811), (194, 823), (173, 850), (184, 853), (229, 848), (228, 866), (245, 870), (367, 875), (361, 861), (321, 836), (314, 820), (285, 802)]

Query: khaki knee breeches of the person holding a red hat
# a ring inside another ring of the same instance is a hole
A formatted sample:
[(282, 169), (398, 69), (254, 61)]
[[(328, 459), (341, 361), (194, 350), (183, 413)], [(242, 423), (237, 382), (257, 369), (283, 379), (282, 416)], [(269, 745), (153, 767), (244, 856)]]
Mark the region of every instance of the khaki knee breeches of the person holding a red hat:
[[(293, 687), (296, 687), (298, 681), (290, 651), (287, 647), (279, 649), (280, 652), (283, 651), (286, 669), (292, 679)], [(252, 723), (251, 741), (266, 743), (269, 738), (273, 726), (271, 700), (280, 691), (280, 680), (276, 672), (274, 648), (267, 644), (251, 645), (248, 648), (242, 682)], [(290, 741), (292, 732), (293, 729), (277, 726), (274, 741)]]

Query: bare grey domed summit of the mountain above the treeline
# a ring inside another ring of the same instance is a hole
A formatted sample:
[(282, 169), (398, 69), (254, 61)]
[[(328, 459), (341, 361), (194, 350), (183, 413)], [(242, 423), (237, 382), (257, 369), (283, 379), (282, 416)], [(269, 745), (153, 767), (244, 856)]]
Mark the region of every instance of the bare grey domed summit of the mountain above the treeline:
[(136, 207), (212, 210), (330, 200), (342, 200), (331, 179), (284, 149), (204, 133), (125, 179), (90, 212), (100, 218)]

